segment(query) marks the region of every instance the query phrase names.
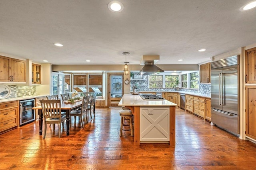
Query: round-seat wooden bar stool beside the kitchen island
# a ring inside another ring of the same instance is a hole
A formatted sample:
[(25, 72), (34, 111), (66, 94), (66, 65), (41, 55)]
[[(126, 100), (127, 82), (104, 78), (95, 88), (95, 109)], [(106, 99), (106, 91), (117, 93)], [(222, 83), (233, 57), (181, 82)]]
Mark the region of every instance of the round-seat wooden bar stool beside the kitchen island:
[[(122, 136), (123, 131), (131, 131), (131, 136), (133, 136), (132, 111), (130, 109), (124, 109), (124, 110), (119, 111), (119, 115), (121, 116), (120, 136)], [(130, 129), (127, 129), (127, 130), (123, 129), (123, 126), (129, 126), (129, 125), (124, 124), (125, 118), (129, 118), (129, 120), (130, 120)]]

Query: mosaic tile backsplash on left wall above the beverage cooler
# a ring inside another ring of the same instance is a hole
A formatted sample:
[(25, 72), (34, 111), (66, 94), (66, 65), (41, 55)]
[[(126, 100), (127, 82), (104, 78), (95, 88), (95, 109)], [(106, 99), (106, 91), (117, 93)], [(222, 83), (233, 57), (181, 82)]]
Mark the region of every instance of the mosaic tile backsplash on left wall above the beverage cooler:
[(11, 94), (8, 98), (22, 97), (22, 96), (30, 96), (34, 95), (36, 92), (35, 86), (16, 86), (16, 85), (8, 85), (11, 89)]

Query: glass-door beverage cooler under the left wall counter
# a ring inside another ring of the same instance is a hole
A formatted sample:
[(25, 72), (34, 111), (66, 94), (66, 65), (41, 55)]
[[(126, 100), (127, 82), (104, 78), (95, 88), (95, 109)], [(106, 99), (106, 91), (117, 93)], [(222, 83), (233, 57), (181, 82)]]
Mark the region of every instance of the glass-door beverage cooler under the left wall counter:
[(35, 120), (35, 111), (32, 109), (34, 104), (34, 99), (20, 101), (20, 125)]

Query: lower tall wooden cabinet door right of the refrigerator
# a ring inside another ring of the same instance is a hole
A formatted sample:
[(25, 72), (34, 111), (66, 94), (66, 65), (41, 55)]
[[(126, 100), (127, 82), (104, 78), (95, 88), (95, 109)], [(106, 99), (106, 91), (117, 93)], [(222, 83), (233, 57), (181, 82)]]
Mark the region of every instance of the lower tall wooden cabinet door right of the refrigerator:
[(246, 136), (256, 139), (256, 86), (246, 86)]

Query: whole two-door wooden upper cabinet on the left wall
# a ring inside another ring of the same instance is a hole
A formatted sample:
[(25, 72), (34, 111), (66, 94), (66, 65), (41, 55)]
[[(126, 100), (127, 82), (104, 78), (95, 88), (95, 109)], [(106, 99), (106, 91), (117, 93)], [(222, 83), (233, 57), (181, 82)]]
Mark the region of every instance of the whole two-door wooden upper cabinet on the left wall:
[(0, 81), (26, 82), (26, 61), (0, 56)]

